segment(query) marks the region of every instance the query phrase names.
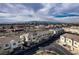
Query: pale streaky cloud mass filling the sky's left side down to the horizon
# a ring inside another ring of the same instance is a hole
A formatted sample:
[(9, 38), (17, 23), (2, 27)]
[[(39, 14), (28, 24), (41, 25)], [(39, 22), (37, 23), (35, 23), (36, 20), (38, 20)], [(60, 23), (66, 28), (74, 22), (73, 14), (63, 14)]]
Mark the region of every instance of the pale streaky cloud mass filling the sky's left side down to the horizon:
[(32, 20), (29, 15), (34, 15), (33, 9), (23, 4), (0, 4), (0, 23)]

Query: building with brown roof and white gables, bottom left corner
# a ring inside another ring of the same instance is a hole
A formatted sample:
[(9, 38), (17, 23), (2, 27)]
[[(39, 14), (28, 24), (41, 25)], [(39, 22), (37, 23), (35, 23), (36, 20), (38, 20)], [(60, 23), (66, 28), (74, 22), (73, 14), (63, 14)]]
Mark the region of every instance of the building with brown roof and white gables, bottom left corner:
[(12, 51), (13, 49), (21, 47), (19, 36), (2, 36), (0, 37), (0, 52), (3, 50)]

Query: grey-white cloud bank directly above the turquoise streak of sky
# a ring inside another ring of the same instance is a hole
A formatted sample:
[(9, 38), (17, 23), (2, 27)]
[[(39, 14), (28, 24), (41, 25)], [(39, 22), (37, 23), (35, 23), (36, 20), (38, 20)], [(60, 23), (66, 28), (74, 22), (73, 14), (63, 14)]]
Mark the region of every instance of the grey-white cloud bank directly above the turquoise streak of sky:
[(64, 15), (64, 13), (79, 13), (78, 3), (53, 3), (42, 4), (44, 7), (38, 12), (45, 15)]

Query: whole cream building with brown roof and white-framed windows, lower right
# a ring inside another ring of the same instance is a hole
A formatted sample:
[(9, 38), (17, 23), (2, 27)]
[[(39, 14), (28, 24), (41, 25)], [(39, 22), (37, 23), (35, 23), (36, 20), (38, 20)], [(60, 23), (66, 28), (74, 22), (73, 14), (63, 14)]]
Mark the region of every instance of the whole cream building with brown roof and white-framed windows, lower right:
[(79, 54), (79, 36), (65, 33), (60, 36), (60, 43), (73, 53)]

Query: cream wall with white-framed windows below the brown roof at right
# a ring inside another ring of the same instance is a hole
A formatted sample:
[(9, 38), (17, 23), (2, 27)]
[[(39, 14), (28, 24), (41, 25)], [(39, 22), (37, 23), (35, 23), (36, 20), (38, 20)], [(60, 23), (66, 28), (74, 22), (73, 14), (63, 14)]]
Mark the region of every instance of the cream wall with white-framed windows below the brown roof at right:
[(79, 42), (73, 41), (72, 39), (69, 39), (64, 36), (60, 36), (60, 43), (62, 45), (66, 44), (67, 46), (70, 46), (68, 47), (69, 50), (73, 51), (73, 53), (79, 54)]

